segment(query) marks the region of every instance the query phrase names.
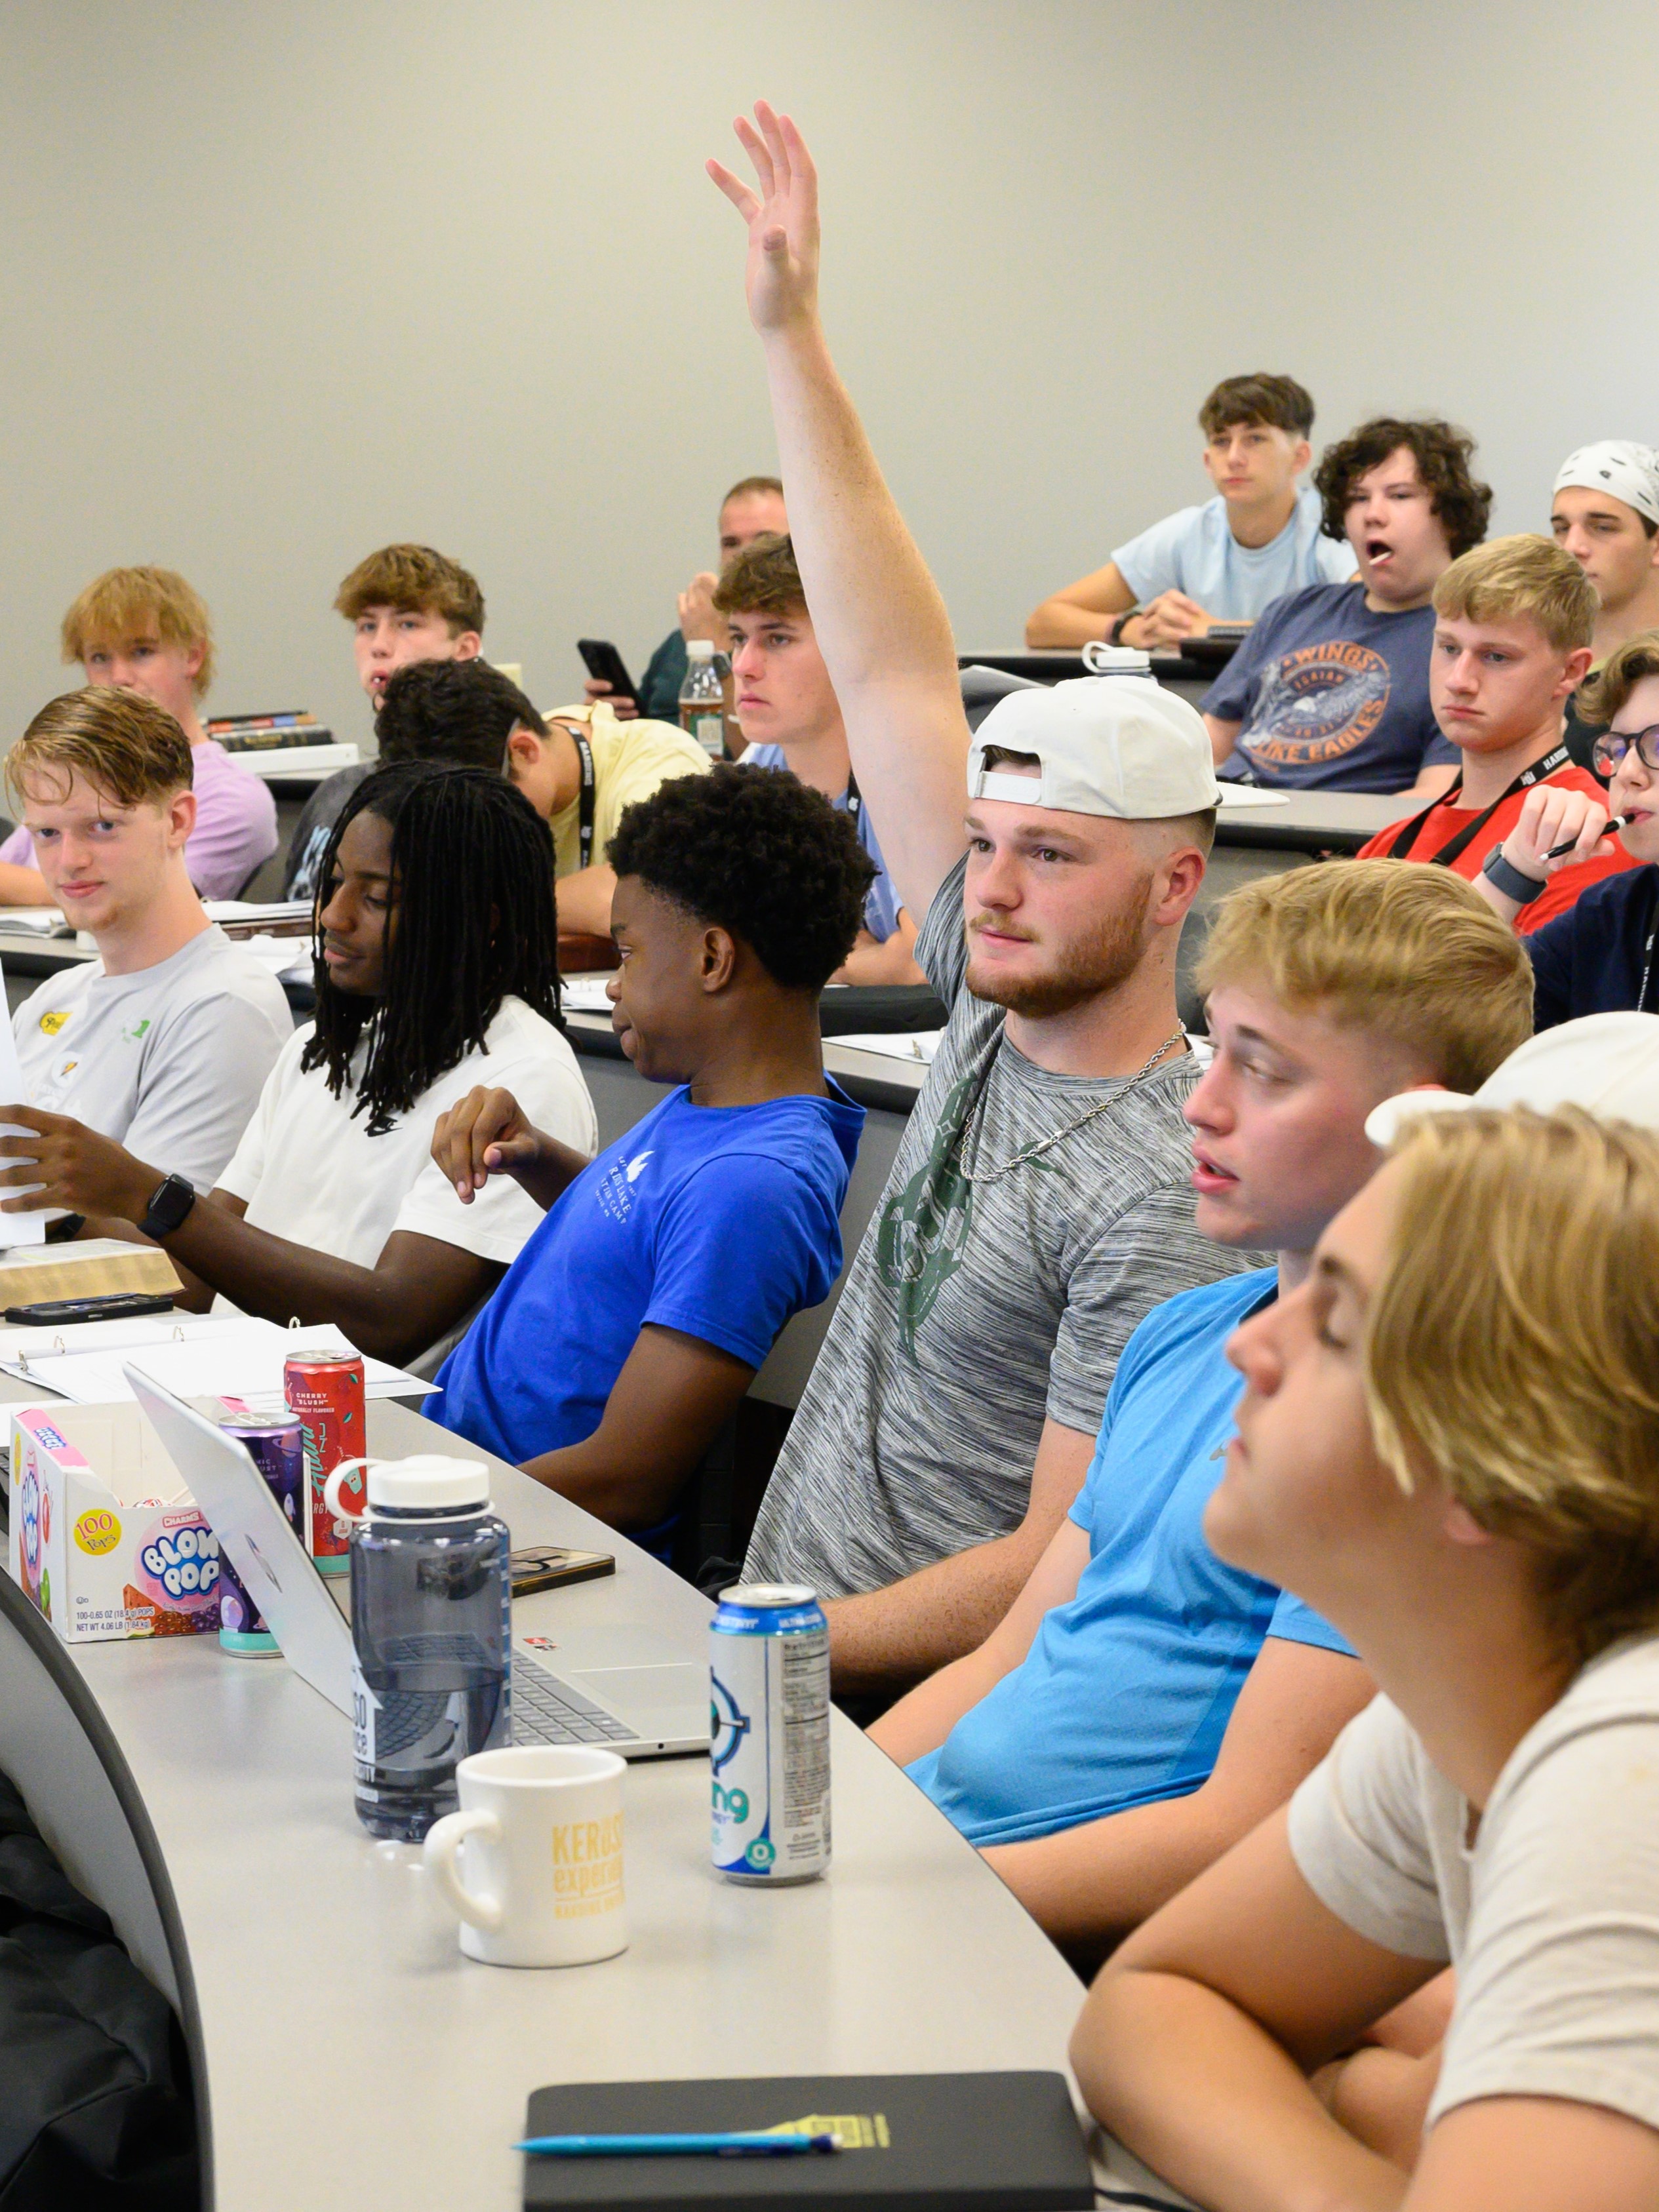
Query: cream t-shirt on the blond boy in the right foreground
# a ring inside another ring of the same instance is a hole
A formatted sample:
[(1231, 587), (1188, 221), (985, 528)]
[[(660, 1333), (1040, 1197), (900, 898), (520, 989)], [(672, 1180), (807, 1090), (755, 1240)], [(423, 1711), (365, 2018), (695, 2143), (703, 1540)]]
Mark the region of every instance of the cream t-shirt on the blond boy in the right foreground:
[(1290, 1803), (1338, 1920), (1451, 1962), (1429, 2124), (1473, 2097), (1568, 2097), (1659, 2128), (1659, 1635), (1601, 1652), (1469, 1803), (1378, 1697)]

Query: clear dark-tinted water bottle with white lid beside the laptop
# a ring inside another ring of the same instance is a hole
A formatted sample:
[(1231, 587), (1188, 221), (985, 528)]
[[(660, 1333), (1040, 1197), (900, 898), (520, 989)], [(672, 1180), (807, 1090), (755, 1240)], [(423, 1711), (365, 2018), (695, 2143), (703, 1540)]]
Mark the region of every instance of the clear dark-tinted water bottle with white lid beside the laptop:
[[(511, 1741), (507, 1522), (482, 1460), (343, 1460), (367, 1469), (352, 1522), (356, 1816), (418, 1843), (456, 1809), (456, 1767)], [(347, 1509), (349, 1511), (349, 1509)]]

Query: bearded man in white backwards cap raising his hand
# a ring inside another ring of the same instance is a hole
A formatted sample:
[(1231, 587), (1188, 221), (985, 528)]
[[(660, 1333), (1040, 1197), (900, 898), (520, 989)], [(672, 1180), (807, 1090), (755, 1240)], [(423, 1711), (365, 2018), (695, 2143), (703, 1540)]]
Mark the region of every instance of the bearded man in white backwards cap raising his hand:
[(951, 1015), (745, 1575), (814, 1584), (843, 1694), (891, 1694), (980, 1644), (1024, 1584), (1148, 1307), (1239, 1265), (1192, 1225), (1175, 1011), (1217, 785), (1197, 714), (1144, 679), (1018, 692), (969, 752), (945, 606), (818, 323), (812, 159), (794, 124), (757, 119), (739, 139), (761, 190), (710, 175), (748, 226), (852, 770)]

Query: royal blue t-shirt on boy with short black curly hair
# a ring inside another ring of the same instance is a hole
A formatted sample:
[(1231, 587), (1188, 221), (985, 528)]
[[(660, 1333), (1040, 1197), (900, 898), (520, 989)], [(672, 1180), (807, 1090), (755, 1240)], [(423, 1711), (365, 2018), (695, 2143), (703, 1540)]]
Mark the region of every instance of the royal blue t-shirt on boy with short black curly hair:
[(520, 1464), (593, 1436), (655, 1323), (759, 1367), (841, 1272), (863, 1106), (692, 1106), (681, 1084), (560, 1194), (438, 1369), (434, 1420)]

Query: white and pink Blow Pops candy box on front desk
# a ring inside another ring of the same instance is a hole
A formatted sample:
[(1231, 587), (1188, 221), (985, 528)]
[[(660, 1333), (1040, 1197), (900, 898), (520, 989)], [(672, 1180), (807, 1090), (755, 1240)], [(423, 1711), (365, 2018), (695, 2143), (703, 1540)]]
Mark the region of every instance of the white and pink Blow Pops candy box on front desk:
[(64, 1644), (219, 1626), (219, 1544), (137, 1405), (11, 1407), (11, 1577)]

